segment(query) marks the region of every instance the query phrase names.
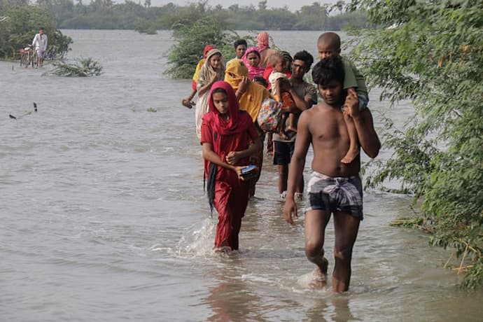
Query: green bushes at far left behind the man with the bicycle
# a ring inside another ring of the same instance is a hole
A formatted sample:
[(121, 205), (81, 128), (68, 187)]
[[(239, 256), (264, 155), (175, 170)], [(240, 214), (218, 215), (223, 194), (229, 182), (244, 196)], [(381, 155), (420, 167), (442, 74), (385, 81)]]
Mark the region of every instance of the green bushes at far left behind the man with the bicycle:
[(39, 27), (48, 36), (48, 58), (64, 57), (72, 39), (56, 29), (48, 10), (38, 6), (13, 5), (0, 0), (0, 58), (14, 57), (15, 52), (31, 44)]

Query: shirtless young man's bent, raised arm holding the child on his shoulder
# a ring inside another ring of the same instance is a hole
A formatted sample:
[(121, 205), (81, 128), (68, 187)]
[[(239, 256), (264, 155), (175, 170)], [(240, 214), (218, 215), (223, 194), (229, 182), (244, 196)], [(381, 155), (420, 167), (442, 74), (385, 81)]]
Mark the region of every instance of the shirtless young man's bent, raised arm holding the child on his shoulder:
[(348, 113), (353, 119), (354, 125), (356, 125), (360, 146), (370, 158), (376, 158), (381, 148), (381, 141), (379, 141), (376, 130), (374, 130), (372, 114), (369, 109), (359, 112), (358, 102), (357, 94), (349, 92), (346, 100)]

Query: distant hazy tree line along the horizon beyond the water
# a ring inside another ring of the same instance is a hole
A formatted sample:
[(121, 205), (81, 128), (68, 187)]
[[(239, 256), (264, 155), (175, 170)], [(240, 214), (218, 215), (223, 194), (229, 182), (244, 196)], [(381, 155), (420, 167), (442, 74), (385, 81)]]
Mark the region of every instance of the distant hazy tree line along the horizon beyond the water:
[[(207, 1), (178, 6), (151, 6), (151, 0), (114, 3), (111, 0), (37, 0), (57, 19), (62, 29), (137, 29), (155, 33), (155, 30), (173, 29), (183, 20), (215, 18), (222, 25), (237, 30), (340, 30), (346, 26), (367, 27), (363, 13), (344, 13), (338, 6), (321, 5), (318, 2), (302, 6), (291, 12), (287, 7), (267, 8), (267, 1), (258, 7), (239, 6), (228, 8), (209, 6)], [(329, 15), (335, 13), (335, 15)]]

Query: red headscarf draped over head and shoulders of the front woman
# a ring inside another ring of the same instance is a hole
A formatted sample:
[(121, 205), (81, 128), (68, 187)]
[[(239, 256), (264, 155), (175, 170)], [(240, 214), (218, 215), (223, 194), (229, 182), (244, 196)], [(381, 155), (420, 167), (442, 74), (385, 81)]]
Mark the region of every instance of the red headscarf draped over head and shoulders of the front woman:
[[(228, 96), (228, 114), (230, 116), (228, 121), (225, 121), (223, 118), (221, 118), (220, 112), (218, 112), (213, 103), (213, 91), (217, 88), (222, 88), (225, 90)], [(224, 80), (218, 80), (211, 85), (208, 104), (210, 111), (204, 115), (203, 120), (207, 123), (210, 122), (213, 126), (213, 129), (220, 135), (231, 135), (244, 132), (248, 130), (248, 127), (253, 125), (253, 121), (248, 113), (239, 110), (235, 91), (233, 90), (232, 86)]]

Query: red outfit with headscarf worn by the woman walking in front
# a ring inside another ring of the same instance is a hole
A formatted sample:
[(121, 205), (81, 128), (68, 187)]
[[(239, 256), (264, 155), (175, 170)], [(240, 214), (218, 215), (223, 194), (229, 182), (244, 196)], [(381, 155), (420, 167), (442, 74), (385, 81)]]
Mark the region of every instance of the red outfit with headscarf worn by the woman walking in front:
[[(228, 94), (229, 114), (228, 121), (221, 118), (211, 99), (211, 92), (221, 87)], [(209, 143), (214, 153), (225, 162), (225, 157), (230, 151), (244, 151), (253, 140), (258, 137), (258, 132), (253, 125), (251, 117), (245, 111), (239, 111), (235, 91), (225, 81), (218, 81), (211, 86), (209, 93), (209, 113), (203, 117), (201, 127), (201, 144)], [(249, 158), (239, 160), (237, 165), (248, 165)], [(216, 226), (215, 247), (230, 246), (232, 250), (239, 247), (238, 234), (248, 204), (249, 183), (238, 179), (237, 173), (204, 162), (205, 176), (209, 179), (208, 193), (210, 204), (218, 211), (218, 225)]]

